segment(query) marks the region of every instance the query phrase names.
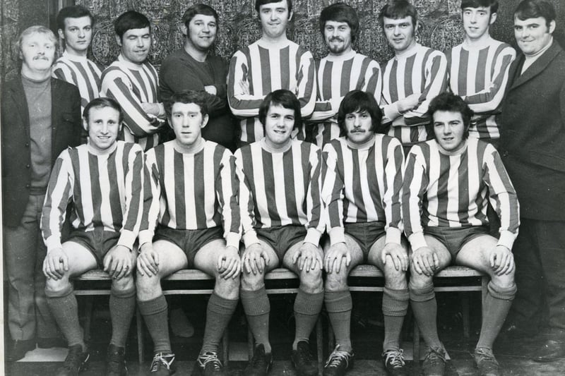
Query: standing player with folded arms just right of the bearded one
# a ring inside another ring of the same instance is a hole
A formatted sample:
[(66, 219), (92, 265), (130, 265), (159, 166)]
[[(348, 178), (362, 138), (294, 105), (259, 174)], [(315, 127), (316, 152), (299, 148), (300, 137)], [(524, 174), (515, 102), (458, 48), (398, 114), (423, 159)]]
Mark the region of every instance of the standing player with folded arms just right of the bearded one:
[(383, 6), (381, 27), (395, 56), (383, 71), (383, 124), (402, 142), (405, 153), (427, 140), (429, 101), (446, 90), (447, 59), (440, 51), (416, 42), (418, 16), (407, 0)]

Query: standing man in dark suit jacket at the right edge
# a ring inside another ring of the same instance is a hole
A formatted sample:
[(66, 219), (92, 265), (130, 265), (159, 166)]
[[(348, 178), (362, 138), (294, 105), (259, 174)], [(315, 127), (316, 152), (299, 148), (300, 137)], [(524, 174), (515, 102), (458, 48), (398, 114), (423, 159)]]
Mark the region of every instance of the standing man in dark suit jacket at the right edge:
[(523, 54), (510, 68), (502, 110), (503, 162), (521, 205), (514, 243), (518, 293), (506, 332), (547, 339), (534, 360), (565, 356), (565, 51), (548, 0), (514, 13)]

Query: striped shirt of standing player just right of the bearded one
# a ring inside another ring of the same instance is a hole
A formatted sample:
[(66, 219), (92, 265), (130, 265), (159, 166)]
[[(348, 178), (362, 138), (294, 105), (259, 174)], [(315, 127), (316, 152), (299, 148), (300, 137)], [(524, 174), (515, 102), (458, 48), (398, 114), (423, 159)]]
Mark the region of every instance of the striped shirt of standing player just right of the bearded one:
[[(411, 51), (395, 56), (383, 70), (383, 124), (391, 126), (388, 135), (410, 145), (427, 140), (429, 102), (447, 86), (447, 59), (440, 51), (416, 44)], [(405, 114), (397, 101), (420, 94), (420, 105)]]

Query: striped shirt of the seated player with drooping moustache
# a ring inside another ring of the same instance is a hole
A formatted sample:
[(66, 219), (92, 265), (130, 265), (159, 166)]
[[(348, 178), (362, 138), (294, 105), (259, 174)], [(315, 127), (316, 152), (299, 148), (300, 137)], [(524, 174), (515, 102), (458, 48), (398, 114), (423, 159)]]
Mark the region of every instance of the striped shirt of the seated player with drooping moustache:
[(376, 134), (369, 147), (358, 148), (338, 138), (323, 148), (323, 160), (322, 200), (331, 243), (345, 241), (345, 223), (383, 222), (387, 242), (400, 244), (404, 168), (400, 142)]

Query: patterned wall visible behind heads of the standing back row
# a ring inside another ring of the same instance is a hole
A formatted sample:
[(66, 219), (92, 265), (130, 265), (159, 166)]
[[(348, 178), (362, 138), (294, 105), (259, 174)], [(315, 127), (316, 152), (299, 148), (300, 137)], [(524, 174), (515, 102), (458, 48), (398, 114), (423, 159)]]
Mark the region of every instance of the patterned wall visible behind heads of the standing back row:
[[(18, 32), (34, 22), (39, 22), (42, 6), (33, 0), (2, 0), (0, 25), (0, 63), (4, 73), (14, 71), (17, 56), (11, 45)], [(360, 18), (359, 38), (355, 49), (383, 63), (392, 56), (387, 46), (378, 15), (386, 0), (344, 0), (357, 9)], [(196, 2), (213, 6), (220, 14), (220, 32), (215, 44), (215, 54), (229, 59), (237, 49), (250, 44), (261, 36), (254, 0), (76, 0), (95, 14), (97, 25), (91, 56), (106, 66), (116, 58), (119, 49), (114, 40), (113, 21), (126, 10), (140, 11), (150, 18), (153, 26), (153, 49), (150, 60), (160, 66), (162, 60), (174, 49), (182, 46), (180, 18), (182, 13)], [(310, 49), (316, 59), (327, 54), (319, 32), (321, 9), (336, 0), (295, 0), (295, 16), (290, 23), (290, 39)], [(499, 17), (492, 27), (492, 35), (499, 40), (513, 43), (512, 13), (519, 0), (501, 0)], [(558, 12), (556, 35), (565, 40), (565, 1), (552, 0)], [(36, 4), (30, 8), (30, 4)], [(460, 23), (460, 0), (414, 0), (420, 14), (417, 38), (436, 49), (445, 51), (463, 40)], [(45, 24), (45, 23), (44, 23)]]

